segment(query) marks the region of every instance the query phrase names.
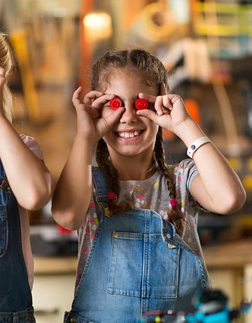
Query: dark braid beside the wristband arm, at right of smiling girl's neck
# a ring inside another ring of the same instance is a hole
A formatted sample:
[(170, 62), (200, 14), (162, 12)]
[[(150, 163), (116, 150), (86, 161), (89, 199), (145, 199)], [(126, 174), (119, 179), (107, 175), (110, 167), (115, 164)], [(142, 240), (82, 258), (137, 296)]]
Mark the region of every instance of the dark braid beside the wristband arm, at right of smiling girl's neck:
[[(176, 199), (176, 183), (173, 173), (169, 171), (167, 168), (167, 164), (165, 163), (165, 151), (164, 146), (162, 143), (162, 128), (159, 127), (156, 141), (155, 141), (155, 159), (158, 163), (158, 166), (160, 167), (160, 170), (162, 171), (163, 175), (165, 176), (165, 179), (167, 180), (167, 186), (169, 190), (169, 197), (171, 199)], [(172, 206), (172, 209), (167, 209), (167, 215), (169, 218), (169, 221), (174, 224), (177, 232), (182, 232), (185, 218), (183, 217), (183, 214), (177, 206)]]

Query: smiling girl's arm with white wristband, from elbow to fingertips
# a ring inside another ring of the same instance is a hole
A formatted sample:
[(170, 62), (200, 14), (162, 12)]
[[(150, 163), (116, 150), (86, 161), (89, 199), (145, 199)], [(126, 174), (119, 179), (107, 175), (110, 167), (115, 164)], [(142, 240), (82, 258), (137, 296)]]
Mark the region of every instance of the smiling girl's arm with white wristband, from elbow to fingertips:
[[(141, 110), (156, 124), (172, 131), (189, 147), (197, 138), (206, 136), (197, 123), (190, 117), (179, 95), (140, 94), (150, 103), (155, 104), (157, 113)], [(205, 209), (215, 213), (232, 213), (241, 208), (246, 199), (246, 192), (227, 159), (214, 143), (205, 143), (193, 154), (199, 175), (192, 182), (191, 190), (197, 202)]]

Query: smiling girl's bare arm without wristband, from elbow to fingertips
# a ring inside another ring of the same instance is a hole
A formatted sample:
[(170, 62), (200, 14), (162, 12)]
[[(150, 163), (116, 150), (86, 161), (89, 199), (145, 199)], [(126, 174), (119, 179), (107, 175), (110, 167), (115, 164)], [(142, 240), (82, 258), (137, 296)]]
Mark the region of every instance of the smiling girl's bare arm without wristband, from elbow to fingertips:
[(77, 113), (77, 134), (73, 147), (59, 176), (52, 198), (52, 215), (64, 228), (77, 230), (90, 205), (92, 189), (92, 152), (97, 141), (115, 124), (123, 107), (113, 111), (109, 119), (100, 117), (99, 110), (115, 95), (92, 91), (80, 100), (81, 88), (73, 94)]

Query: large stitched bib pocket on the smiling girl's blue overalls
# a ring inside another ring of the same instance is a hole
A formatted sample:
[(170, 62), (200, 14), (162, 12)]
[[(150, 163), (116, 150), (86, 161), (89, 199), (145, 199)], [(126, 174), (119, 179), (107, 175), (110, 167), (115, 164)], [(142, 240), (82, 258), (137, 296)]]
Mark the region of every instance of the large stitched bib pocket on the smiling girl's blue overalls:
[(113, 232), (107, 292), (148, 298), (176, 298), (180, 249), (162, 235)]

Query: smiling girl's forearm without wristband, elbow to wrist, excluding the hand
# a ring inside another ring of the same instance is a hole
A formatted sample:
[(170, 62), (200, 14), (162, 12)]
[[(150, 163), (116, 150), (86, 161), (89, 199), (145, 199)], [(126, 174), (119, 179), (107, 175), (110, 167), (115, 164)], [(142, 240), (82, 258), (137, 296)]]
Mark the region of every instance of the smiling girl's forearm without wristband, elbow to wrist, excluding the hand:
[(77, 230), (90, 204), (94, 145), (77, 133), (52, 197), (52, 216), (59, 225)]

